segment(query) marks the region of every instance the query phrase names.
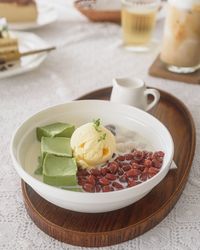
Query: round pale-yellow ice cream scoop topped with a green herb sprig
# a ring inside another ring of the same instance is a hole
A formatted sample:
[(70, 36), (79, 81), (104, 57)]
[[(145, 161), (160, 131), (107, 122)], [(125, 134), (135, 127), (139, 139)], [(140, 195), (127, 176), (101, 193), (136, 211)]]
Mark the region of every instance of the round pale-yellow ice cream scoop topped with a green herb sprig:
[(92, 168), (109, 160), (116, 151), (114, 135), (102, 125), (86, 123), (77, 128), (71, 137), (71, 147), (77, 163)]

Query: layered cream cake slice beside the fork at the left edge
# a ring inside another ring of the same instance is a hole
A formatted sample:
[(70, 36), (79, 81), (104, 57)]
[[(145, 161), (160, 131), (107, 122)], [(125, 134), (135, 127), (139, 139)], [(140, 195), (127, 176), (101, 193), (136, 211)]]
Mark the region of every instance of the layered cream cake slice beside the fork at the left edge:
[(5, 18), (0, 19), (0, 63), (19, 57), (18, 41), (9, 34)]

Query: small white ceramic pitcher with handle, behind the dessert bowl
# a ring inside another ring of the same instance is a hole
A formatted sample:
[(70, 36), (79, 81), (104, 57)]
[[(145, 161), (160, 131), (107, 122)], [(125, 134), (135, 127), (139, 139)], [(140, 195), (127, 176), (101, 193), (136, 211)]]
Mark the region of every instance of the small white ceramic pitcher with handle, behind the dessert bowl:
[[(154, 96), (154, 100), (148, 104), (148, 95)], [(147, 89), (143, 80), (139, 78), (113, 79), (111, 102), (128, 104), (149, 111), (159, 101), (160, 93), (156, 89)]]

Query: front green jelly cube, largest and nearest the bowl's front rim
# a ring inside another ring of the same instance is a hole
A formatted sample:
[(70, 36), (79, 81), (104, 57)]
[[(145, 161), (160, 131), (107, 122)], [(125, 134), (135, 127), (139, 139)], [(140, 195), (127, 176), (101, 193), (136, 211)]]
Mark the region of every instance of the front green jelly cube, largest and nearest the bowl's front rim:
[(74, 158), (46, 154), (43, 181), (52, 186), (77, 186), (77, 165)]

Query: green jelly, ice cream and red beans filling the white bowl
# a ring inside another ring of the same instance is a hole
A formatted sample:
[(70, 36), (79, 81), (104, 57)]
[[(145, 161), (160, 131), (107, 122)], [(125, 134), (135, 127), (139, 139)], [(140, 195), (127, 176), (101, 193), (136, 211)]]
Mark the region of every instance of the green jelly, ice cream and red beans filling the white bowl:
[(75, 128), (56, 122), (38, 127), (40, 145), (34, 177), (76, 192), (111, 192), (131, 188), (155, 176), (164, 152), (135, 131), (103, 126), (100, 119)]

